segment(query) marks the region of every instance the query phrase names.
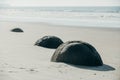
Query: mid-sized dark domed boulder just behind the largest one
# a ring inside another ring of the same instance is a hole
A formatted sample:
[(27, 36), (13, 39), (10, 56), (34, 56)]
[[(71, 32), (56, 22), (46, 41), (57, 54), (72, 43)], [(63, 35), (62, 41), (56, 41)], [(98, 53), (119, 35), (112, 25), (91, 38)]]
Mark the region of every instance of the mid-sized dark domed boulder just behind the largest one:
[(46, 48), (56, 49), (62, 43), (63, 43), (63, 41), (56, 36), (44, 36), (41, 39), (37, 40), (35, 45), (41, 46), (41, 47), (46, 47)]

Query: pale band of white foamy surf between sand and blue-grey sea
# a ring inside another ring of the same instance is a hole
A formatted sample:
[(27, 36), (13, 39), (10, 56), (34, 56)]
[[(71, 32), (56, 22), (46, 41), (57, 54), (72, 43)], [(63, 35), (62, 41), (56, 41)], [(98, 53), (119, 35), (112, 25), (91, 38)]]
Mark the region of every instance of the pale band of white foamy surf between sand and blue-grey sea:
[[(42, 13), (43, 14), (43, 13)], [(79, 17), (79, 18), (71, 18), (71, 17), (63, 17), (67, 16), (67, 14), (64, 15), (64, 13), (61, 13), (59, 17), (53, 16), (52, 13), (50, 15), (47, 15), (47, 12), (44, 13), (46, 14), (45, 16), (3, 16), (1, 15), (0, 21), (12, 21), (12, 22), (31, 22), (31, 23), (49, 23), (49, 24), (54, 24), (54, 25), (65, 25), (65, 26), (84, 26), (84, 27), (114, 27), (114, 28), (120, 28), (120, 23), (119, 23), (119, 18), (117, 16), (115, 19), (112, 19), (109, 15), (108, 18), (106, 17), (96, 17), (92, 18), (92, 14), (89, 16), (86, 16), (85, 18)], [(57, 14), (57, 13), (56, 13)], [(27, 15), (27, 14), (26, 14)], [(49, 17), (50, 16), (50, 17)], [(113, 15), (114, 16), (114, 15)]]

